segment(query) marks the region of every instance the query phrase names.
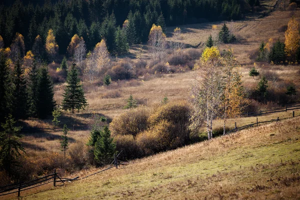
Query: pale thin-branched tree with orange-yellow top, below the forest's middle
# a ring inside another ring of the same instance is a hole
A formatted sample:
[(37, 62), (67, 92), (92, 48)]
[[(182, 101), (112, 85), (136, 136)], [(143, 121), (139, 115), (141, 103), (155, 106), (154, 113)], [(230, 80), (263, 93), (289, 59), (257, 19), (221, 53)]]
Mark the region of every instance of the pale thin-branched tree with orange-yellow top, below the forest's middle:
[(148, 44), (153, 58), (160, 60), (166, 50), (166, 36), (159, 25), (153, 24), (149, 32)]

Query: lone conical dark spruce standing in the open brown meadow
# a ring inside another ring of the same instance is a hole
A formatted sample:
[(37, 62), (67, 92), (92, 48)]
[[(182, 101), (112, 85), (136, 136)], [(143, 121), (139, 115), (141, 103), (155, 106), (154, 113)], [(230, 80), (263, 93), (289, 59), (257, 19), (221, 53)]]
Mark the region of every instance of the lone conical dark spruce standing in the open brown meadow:
[(84, 109), (87, 102), (84, 97), (83, 88), (78, 77), (78, 70), (75, 63), (72, 64), (71, 69), (67, 74), (66, 83), (67, 85), (63, 93), (62, 109), (72, 110), (72, 113), (74, 113), (74, 109), (78, 109), (79, 112), (79, 109)]

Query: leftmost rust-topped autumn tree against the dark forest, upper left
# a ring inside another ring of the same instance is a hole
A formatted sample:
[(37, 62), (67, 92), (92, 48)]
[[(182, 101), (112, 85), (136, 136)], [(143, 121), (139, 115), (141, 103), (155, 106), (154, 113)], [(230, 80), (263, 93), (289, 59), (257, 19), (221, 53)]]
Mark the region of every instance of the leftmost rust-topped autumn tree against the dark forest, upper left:
[(12, 40), (12, 43), (10, 45), (10, 56), (12, 61), (16, 61), (20, 57), (24, 56), (25, 52), (25, 44), (24, 44), (24, 37), (20, 33), (15, 33), (15, 36)]

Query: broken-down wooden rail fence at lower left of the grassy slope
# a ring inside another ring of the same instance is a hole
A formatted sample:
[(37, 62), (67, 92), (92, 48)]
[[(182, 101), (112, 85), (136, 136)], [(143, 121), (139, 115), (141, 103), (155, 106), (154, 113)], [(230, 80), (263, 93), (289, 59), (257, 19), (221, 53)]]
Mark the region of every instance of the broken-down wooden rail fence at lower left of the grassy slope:
[[(121, 152), (122, 152), (122, 150), (121, 150)], [(25, 191), (27, 189), (32, 189), (32, 188), (35, 188), (35, 187), (39, 187), (39, 186), (44, 185), (44, 184), (49, 184), (49, 183), (53, 182), (53, 186), (56, 186), (56, 183), (61, 182), (62, 184), (64, 184), (64, 182), (66, 182), (66, 181), (71, 182), (73, 180), (80, 180), (80, 179), (86, 178), (88, 176), (97, 174), (99, 172), (108, 170), (112, 167), (118, 168), (118, 165), (127, 163), (127, 162), (124, 162), (124, 161), (121, 161), (121, 160), (117, 159), (117, 157), (119, 156), (119, 154), (121, 152), (119, 152), (117, 155), (114, 154), (113, 161), (110, 163), (110, 165), (107, 168), (99, 170), (99, 171), (94, 172), (92, 174), (86, 175), (82, 178), (79, 178), (79, 176), (76, 176), (74, 178), (62, 178), (62, 177), (58, 176), (58, 174), (56, 172), (56, 169), (54, 169), (53, 173), (51, 173), (49, 175), (46, 175), (46, 176), (43, 176), (43, 177), (40, 177), (40, 178), (37, 178), (37, 179), (34, 179), (34, 180), (30, 180), (30, 181), (27, 181), (27, 182), (20, 182), (19, 181), (19, 182), (13, 183), (13, 184), (0, 186), (0, 196), (7, 195), (7, 194), (12, 194), (12, 193), (17, 193), (17, 196), (19, 197), (21, 191)]]

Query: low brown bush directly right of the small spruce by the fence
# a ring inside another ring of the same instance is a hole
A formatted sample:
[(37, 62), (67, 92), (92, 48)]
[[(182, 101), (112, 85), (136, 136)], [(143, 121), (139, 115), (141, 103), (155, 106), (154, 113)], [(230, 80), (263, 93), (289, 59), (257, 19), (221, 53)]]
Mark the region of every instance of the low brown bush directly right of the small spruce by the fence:
[(121, 152), (119, 155), (120, 160), (129, 160), (140, 158), (143, 156), (142, 150), (137, 145), (132, 135), (116, 135), (113, 137), (116, 143), (116, 150)]

